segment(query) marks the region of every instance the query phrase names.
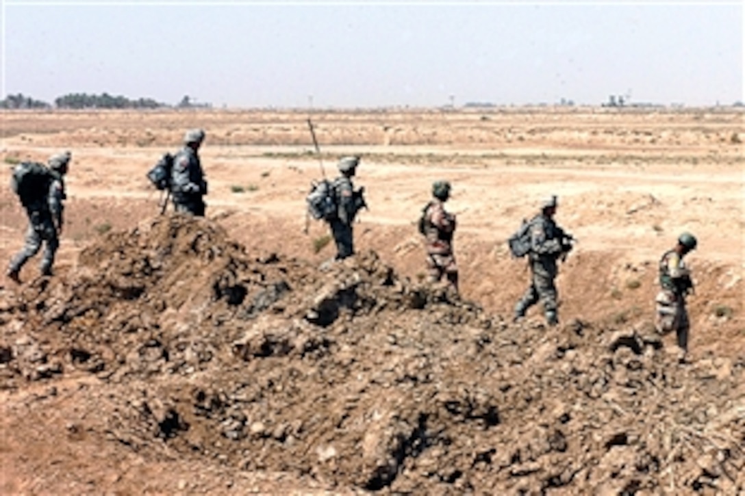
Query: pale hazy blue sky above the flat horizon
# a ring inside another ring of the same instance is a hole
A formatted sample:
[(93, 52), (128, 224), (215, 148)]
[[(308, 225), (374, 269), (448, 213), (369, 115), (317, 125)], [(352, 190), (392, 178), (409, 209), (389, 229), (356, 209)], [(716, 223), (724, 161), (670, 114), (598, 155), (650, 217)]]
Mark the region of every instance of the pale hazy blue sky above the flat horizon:
[(2, 98), (214, 106), (742, 101), (744, 1), (0, 0)]

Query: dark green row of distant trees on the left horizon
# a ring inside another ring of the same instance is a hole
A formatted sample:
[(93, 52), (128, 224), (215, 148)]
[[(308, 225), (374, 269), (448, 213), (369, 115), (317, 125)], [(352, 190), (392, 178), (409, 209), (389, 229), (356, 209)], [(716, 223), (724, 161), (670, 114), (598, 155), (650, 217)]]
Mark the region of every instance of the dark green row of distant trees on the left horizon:
[[(57, 109), (159, 109), (170, 107), (153, 98), (130, 98), (118, 95), (113, 96), (108, 93), (101, 95), (89, 95), (87, 93), (69, 93), (54, 99), (54, 107)], [(210, 107), (211, 104), (197, 104), (191, 101), (188, 95), (184, 96), (177, 108), (204, 108)], [(51, 109), (52, 105), (45, 101), (34, 100), (19, 93), (18, 95), (7, 95), (7, 98), (0, 100), (0, 109)]]

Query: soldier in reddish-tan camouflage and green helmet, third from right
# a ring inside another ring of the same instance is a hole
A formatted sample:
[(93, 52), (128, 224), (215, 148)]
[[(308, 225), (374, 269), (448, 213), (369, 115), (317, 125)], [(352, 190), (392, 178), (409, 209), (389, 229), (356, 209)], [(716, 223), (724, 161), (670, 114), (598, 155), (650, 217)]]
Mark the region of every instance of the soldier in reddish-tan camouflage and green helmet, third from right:
[(443, 276), (458, 292), (458, 268), (453, 254), (455, 215), (446, 212), (445, 202), (450, 197), (450, 183), (437, 181), (432, 185), (432, 200), (422, 217), (422, 234), (427, 248), (427, 273), (429, 282), (440, 282)]

